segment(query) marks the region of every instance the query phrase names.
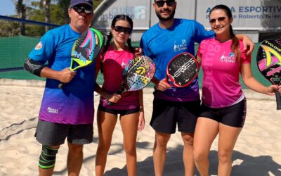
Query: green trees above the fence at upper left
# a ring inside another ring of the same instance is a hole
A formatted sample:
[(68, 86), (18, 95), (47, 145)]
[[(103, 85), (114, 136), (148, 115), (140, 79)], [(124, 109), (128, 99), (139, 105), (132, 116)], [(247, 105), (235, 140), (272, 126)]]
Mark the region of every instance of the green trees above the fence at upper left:
[[(70, 0), (12, 0), (18, 15), (14, 18), (34, 20), (56, 25), (70, 23), (68, 8)], [(94, 0), (93, 6), (96, 8), (103, 0)], [(30, 23), (13, 22), (0, 20), (0, 37), (10, 37), (18, 34), (30, 37), (41, 37), (46, 30), (53, 27), (34, 25)]]

